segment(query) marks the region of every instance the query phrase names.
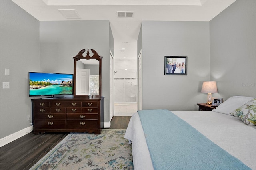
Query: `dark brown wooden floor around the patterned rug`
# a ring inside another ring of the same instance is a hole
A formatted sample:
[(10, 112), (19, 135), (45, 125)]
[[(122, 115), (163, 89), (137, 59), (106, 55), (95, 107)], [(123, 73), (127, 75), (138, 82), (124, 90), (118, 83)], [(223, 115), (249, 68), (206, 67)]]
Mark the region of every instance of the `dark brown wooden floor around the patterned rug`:
[[(126, 129), (130, 117), (117, 116), (111, 120), (111, 129)], [(28, 170), (68, 133), (33, 134), (32, 132), (0, 148), (0, 170)]]

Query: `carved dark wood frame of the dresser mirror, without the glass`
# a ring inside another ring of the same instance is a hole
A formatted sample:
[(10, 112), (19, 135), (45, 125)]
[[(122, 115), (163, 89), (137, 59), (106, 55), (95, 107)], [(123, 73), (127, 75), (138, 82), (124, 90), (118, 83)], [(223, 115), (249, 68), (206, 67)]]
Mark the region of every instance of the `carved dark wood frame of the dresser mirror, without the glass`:
[(96, 59), (99, 61), (99, 83), (100, 83), (100, 87), (99, 87), (99, 94), (96, 95), (96, 97), (101, 97), (101, 60), (103, 57), (99, 56), (98, 53), (94, 50), (91, 49), (93, 56), (91, 57), (89, 55), (89, 49), (87, 49), (87, 55), (84, 57), (83, 53), (85, 52), (85, 49), (82, 49), (81, 51), (79, 51), (79, 53), (73, 57), (74, 58), (74, 78), (73, 78), (73, 95), (74, 97), (88, 97), (88, 95), (76, 95), (76, 61), (79, 61), (80, 59)]

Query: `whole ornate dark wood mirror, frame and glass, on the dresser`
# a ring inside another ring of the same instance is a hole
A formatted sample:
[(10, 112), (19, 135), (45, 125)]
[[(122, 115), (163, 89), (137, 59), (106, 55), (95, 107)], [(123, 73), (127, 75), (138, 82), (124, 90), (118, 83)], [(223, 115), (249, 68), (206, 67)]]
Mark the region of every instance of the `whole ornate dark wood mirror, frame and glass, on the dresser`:
[(98, 53), (91, 49), (93, 56), (84, 57), (85, 49), (79, 51), (74, 58), (74, 97), (88, 97), (96, 95), (101, 97), (101, 59)]

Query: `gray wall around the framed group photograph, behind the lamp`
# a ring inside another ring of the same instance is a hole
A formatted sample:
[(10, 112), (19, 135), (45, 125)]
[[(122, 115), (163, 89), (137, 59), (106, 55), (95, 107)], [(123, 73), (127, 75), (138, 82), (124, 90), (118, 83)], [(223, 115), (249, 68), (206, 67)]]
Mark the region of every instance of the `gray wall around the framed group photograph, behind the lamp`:
[[(210, 79), (209, 22), (142, 22), (142, 109), (196, 110)], [(164, 56), (187, 56), (187, 75), (164, 75)]]

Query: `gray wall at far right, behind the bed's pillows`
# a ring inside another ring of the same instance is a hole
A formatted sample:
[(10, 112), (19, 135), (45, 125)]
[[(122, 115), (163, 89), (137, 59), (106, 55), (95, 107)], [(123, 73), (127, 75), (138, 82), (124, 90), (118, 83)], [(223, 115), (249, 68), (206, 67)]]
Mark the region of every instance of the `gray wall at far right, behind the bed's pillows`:
[(210, 79), (218, 94), (256, 97), (256, 1), (236, 1), (210, 21)]

